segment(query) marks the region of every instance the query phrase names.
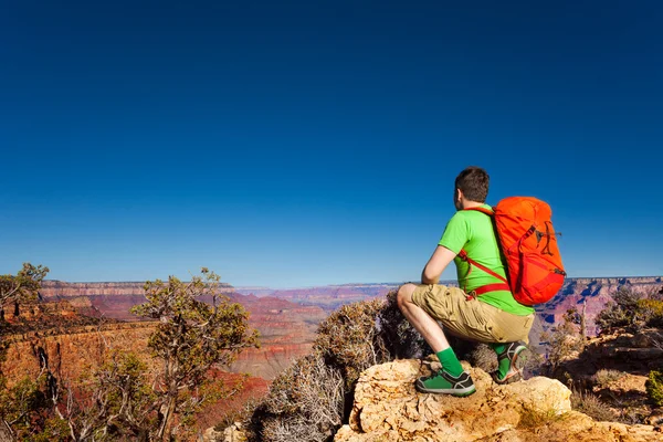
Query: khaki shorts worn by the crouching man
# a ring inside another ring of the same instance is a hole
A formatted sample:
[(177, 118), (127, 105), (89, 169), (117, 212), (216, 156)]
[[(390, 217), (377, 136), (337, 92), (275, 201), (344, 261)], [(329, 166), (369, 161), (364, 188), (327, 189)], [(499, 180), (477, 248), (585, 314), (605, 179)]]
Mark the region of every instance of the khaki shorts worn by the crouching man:
[(440, 284), (418, 285), (412, 302), (453, 335), (481, 343), (529, 343), (534, 314), (514, 315)]

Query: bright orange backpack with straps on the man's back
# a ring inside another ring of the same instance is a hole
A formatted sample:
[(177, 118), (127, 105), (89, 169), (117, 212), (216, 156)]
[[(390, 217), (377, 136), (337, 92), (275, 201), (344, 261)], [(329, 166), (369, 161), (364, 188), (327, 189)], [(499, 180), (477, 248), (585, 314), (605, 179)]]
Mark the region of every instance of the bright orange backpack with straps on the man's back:
[[(493, 211), (484, 208), (465, 210), (476, 210), (493, 217), (495, 234), (506, 259), (508, 277), (505, 280), (473, 261), (464, 250), (459, 254), (461, 259), (508, 283), (514, 298), (520, 304), (543, 304), (559, 292), (566, 272), (557, 248), (550, 221), (552, 212), (548, 203), (532, 197), (509, 197), (501, 200)], [(491, 285), (497, 287), (502, 284)], [(491, 291), (482, 288), (478, 287), (475, 292), (480, 294)]]

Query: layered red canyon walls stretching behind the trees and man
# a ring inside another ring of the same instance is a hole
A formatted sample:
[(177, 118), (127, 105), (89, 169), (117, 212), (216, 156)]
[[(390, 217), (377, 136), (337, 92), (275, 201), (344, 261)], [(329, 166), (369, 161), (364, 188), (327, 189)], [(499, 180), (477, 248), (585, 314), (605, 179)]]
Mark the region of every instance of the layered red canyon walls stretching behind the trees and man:
[[(201, 415), (201, 428), (212, 425), (227, 410), (236, 410), (246, 400), (264, 394), (280, 372), (309, 352), (318, 325), (332, 311), (344, 304), (385, 297), (398, 286), (380, 283), (272, 290), (223, 284), (221, 293), (249, 312), (249, 323), (260, 332), (261, 345), (244, 350), (230, 367), (223, 368), (222, 376), (230, 383), (239, 379), (233, 376), (248, 373), (246, 388), (233, 401), (210, 407)], [(567, 278), (554, 299), (536, 307), (530, 339), (538, 345), (541, 332), (562, 320), (573, 307), (585, 308), (588, 333), (596, 335), (596, 315), (620, 287), (651, 294), (662, 286), (660, 276)], [(6, 312), (13, 330), (6, 336), (9, 348), (2, 364), (8, 382), (25, 376), (34, 378), (44, 361), (59, 377), (74, 379), (98, 364), (108, 348), (145, 354), (155, 323), (129, 312), (143, 302), (144, 283), (139, 282), (43, 282), (35, 303), (20, 305), (18, 312)]]

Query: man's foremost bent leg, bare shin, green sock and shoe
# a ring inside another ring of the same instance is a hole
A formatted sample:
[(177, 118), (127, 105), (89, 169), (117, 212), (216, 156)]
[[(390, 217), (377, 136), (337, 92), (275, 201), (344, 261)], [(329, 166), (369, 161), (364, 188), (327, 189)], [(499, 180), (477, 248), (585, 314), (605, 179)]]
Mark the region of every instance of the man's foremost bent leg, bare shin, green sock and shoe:
[(474, 382), (449, 345), (440, 325), (425, 311), (412, 302), (417, 285), (404, 284), (398, 291), (397, 302), (408, 322), (423, 336), (442, 364), (442, 370), (431, 377), (420, 378), (417, 389), (424, 392), (441, 392), (469, 396), (475, 391)]

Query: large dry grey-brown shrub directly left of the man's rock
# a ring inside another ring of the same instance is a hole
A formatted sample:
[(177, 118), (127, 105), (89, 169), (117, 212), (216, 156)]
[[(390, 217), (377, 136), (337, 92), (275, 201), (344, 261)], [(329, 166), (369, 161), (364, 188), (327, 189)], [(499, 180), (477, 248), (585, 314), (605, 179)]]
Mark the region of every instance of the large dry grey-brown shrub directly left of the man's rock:
[(394, 358), (421, 356), (428, 346), (396, 303), (386, 299), (341, 306), (318, 327), (309, 356), (273, 382), (245, 422), (250, 440), (326, 441), (347, 421), (359, 373)]

